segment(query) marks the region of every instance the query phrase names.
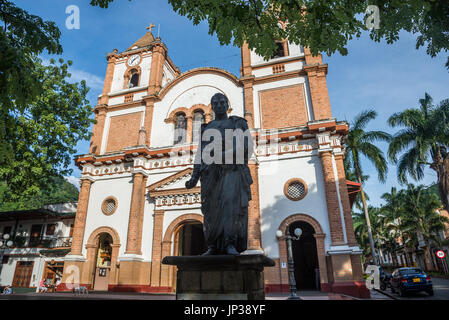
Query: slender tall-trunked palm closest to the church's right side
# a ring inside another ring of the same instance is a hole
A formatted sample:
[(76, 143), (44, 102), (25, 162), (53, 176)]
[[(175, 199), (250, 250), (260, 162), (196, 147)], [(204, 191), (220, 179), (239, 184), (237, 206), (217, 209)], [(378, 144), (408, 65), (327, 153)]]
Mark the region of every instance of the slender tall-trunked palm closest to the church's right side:
[(360, 183), (360, 195), (362, 198), (363, 211), (365, 214), (368, 238), (370, 242), (371, 252), (373, 253), (374, 262), (379, 263), (375, 249), (374, 240), (371, 228), (370, 217), (368, 214), (368, 206), (366, 204), (365, 192), (363, 190), (363, 171), (361, 165), (361, 157), (364, 156), (370, 160), (376, 168), (379, 180), (385, 182), (387, 174), (387, 161), (383, 155), (383, 152), (376, 147), (373, 142), (386, 141), (389, 142), (391, 136), (383, 131), (365, 131), (365, 127), (370, 120), (376, 118), (377, 113), (374, 110), (367, 110), (357, 115), (351, 124), (346, 139), (346, 161), (347, 166), (352, 168), (357, 178), (357, 182)]

